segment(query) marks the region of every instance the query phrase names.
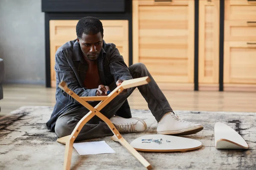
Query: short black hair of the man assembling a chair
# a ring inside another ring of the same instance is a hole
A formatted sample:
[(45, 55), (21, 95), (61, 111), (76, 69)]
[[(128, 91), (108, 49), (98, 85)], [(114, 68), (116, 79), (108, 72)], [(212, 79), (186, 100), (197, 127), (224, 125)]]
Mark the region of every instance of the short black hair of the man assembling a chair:
[(76, 36), (81, 38), (84, 34), (98, 34), (101, 32), (103, 37), (102, 22), (96, 17), (84, 17), (81, 18), (76, 25)]

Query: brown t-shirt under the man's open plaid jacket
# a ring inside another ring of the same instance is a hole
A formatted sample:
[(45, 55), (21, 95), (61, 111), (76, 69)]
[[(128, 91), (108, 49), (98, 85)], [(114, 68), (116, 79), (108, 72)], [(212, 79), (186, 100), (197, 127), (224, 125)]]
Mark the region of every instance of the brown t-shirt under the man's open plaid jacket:
[(90, 61), (85, 59), (88, 64), (88, 70), (84, 79), (84, 85), (88, 89), (98, 88), (102, 83), (99, 79), (97, 61)]

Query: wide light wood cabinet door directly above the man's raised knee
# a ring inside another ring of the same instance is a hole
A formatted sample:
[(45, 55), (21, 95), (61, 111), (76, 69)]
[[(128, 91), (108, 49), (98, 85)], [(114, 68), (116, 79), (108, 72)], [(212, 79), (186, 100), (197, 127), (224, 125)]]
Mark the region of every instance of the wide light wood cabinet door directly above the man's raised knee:
[(194, 89), (193, 0), (133, 0), (133, 63), (161, 89)]

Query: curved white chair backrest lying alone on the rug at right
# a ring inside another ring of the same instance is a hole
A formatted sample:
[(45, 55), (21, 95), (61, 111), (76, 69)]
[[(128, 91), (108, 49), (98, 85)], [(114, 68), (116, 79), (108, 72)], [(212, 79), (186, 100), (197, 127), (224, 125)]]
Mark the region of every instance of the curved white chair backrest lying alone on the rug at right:
[(214, 126), (215, 147), (217, 149), (248, 149), (245, 140), (228, 125), (217, 122)]

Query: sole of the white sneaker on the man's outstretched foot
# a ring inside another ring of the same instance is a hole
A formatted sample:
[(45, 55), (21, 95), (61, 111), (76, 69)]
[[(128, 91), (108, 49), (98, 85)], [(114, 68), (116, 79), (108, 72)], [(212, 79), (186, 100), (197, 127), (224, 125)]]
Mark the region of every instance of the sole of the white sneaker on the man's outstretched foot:
[(186, 129), (182, 129), (182, 130), (171, 130), (171, 131), (157, 132), (157, 134), (183, 136), (183, 135), (191, 135), (194, 133), (198, 133), (203, 129), (204, 129), (203, 125), (198, 125), (195, 127), (190, 127), (190, 128), (186, 128)]

